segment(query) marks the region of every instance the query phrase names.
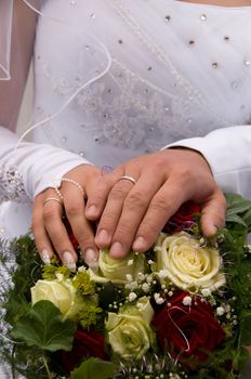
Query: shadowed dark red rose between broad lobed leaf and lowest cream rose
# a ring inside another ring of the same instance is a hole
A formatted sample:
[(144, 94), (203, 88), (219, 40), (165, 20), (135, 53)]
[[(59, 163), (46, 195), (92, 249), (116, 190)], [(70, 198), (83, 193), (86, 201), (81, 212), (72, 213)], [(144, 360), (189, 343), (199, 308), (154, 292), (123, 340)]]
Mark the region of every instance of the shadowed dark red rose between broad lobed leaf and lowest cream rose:
[(70, 373), (82, 358), (90, 356), (105, 360), (104, 336), (96, 331), (77, 330), (71, 351), (62, 351), (62, 365), (67, 373)]

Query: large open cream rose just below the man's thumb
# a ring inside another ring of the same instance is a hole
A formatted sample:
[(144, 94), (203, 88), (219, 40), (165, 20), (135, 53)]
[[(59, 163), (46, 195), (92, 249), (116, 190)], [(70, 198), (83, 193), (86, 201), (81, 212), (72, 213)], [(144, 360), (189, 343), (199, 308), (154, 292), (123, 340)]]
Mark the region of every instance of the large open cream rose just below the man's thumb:
[(157, 241), (157, 274), (186, 290), (216, 290), (226, 282), (216, 248), (202, 247), (194, 236), (181, 232)]

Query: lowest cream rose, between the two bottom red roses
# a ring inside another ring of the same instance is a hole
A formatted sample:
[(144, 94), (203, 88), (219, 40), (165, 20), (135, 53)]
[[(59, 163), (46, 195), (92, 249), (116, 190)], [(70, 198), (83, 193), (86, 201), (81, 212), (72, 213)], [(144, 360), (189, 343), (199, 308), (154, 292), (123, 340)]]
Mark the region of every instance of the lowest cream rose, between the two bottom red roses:
[(113, 351), (124, 360), (141, 360), (154, 343), (155, 335), (149, 326), (153, 316), (154, 310), (145, 297), (118, 314), (109, 313), (106, 330)]

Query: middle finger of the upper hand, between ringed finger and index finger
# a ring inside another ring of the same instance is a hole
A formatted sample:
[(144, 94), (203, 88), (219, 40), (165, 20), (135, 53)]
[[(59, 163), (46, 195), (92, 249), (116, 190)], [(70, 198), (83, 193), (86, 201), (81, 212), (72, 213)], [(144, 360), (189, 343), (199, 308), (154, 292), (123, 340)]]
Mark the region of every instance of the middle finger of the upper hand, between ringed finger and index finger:
[(153, 180), (153, 174), (150, 175), (145, 171), (128, 194), (113, 237), (113, 245), (109, 250), (111, 257), (122, 258), (130, 250), (150, 200), (159, 191), (161, 184), (161, 178)]

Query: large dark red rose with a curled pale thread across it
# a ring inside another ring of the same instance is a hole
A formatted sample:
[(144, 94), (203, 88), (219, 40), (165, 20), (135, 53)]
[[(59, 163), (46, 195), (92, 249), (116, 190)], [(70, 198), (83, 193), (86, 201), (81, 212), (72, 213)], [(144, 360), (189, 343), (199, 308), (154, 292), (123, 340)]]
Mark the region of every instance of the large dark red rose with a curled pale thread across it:
[[(200, 298), (191, 298), (191, 305), (184, 305), (183, 299), (189, 293), (177, 291), (169, 303), (156, 314), (153, 325), (156, 328), (159, 345), (180, 360), (208, 358), (207, 352), (214, 351), (224, 340), (225, 332), (215, 319), (213, 309)], [(169, 304), (169, 305), (170, 305)]]

